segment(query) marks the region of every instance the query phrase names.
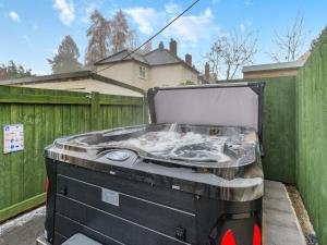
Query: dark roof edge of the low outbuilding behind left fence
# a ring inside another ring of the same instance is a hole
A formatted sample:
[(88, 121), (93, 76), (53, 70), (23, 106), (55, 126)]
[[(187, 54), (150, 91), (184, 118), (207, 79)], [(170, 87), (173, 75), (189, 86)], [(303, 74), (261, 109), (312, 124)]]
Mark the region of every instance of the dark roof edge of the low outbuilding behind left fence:
[(112, 84), (116, 86), (124, 87), (134, 91), (144, 93), (143, 89), (138, 87), (134, 87), (132, 85), (111, 79), (109, 77), (99, 75), (92, 71), (78, 71), (78, 72), (70, 72), (70, 73), (60, 73), (45, 76), (33, 76), (17, 79), (3, 79), (0, 81), (0, 85), (25, 85), (25, 84), (36, 84), (36, 83), (51, 83), (53, 81), (70, 81), (70, 79), (78, 79), (78, 78), (93, 78), (100, 81), (102, 83)]

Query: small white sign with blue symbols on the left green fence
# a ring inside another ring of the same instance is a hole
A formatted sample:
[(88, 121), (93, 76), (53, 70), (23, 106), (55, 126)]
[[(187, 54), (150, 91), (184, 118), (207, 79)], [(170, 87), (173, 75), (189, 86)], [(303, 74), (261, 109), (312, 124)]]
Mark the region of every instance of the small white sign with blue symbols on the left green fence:
[(3, 154), (24, 149), (24, 125), (11, 124), (3, 126)]

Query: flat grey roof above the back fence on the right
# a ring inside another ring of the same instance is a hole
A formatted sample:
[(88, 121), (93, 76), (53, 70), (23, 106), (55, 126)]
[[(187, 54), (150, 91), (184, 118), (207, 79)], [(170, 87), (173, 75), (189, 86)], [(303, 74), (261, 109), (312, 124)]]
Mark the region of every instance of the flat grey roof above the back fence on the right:
[(305, 63), (304, 60), (296, 60), (290, 62), (247, 65), (243, 68), (242, 72), (247, 73), (247, 72), (264, 72), (264, 71), (274, 71), (274, 70), (299, 69), (302, 68), (304, 63)]

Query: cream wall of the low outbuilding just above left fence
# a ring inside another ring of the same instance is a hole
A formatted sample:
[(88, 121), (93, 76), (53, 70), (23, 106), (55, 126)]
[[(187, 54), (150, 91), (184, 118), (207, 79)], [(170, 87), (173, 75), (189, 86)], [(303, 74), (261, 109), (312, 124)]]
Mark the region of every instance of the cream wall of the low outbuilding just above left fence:
[(31, 87), (31, 88), (44, 88), (44, 89), (59, 89), (59, 90), (69, 90), (69, 91), (84, 91), (84, 93), (98, 91), (107, 95), (137, 96), (137, 97), (143, 96), (138, 91), (134, 91), (129, 88), (120, 87), (113, 84), (108, 84), (92, 78), (65, 81), (65, 82), (53, 81), (53, 82), (35, 83), (35, 84), (29, 83), (25, 85), (16, 85), (16, 86)]

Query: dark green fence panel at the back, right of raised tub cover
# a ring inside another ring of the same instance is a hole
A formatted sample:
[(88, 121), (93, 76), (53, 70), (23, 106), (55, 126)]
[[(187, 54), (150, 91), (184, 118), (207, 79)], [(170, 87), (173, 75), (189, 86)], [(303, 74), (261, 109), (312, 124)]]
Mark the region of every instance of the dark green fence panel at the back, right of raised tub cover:
[(265, 177), (295, 183), (295, 77), (263, 81)]

